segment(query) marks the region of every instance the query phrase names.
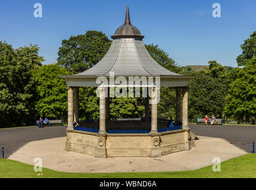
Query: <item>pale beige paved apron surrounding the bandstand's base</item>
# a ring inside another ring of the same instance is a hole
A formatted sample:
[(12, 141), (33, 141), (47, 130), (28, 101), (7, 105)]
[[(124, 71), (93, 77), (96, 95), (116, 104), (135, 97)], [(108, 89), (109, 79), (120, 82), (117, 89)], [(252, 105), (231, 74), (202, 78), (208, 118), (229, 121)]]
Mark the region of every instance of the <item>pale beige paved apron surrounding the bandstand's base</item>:
[[(42, 166), (60, 172), (109, 173), (109, 172), (169, 172), (195, 170), (210, 166), (213, 159), (221, 162), (246, 154), (223, 138), (198, 136), (196, 147), (160, 158), (151, 157), (107, 157), (65, 151), (66, 137), (32, 141), (13, 153), (8, 159), (35, 164), (42, 159)], [(49, 146), (51, 145), (51, 146)]]

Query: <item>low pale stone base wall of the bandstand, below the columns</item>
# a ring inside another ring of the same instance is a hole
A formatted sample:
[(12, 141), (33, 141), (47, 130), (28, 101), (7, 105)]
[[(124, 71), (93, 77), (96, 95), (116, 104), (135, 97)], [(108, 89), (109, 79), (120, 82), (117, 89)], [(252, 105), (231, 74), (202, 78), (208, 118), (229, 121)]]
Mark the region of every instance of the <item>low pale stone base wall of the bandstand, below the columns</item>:
[(67, 131), (66, 150), (95, 157), (161, 157), (191, 149), (189, 129), (154, 134), (96, 134)]

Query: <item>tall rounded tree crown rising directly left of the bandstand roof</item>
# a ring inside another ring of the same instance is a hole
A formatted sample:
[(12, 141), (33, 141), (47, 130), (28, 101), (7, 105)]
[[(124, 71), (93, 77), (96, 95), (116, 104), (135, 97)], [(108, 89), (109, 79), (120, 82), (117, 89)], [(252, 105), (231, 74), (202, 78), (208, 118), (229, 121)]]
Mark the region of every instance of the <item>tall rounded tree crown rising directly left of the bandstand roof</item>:
[(101, 31), (89, 30), (86, 34), (71, 36), (63, 40), (59, 48), (58, 64), (74, 73), (85, 71), (101, 60), (110, 45), (111, 40)]

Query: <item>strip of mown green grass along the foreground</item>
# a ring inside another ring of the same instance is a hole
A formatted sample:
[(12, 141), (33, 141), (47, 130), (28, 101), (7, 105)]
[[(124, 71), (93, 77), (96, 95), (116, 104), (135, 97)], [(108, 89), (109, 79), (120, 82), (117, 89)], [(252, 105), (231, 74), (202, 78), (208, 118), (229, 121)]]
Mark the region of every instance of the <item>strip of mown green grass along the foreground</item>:
[(221, 172), (213, 172), (212, 166), (183, 172), (67, 173), (46, 168), (34, 172), (32, 165), (0, 159), (0, 178), (256, 178), (255, 171), (256, 154), (252, 153), (222, 162)]

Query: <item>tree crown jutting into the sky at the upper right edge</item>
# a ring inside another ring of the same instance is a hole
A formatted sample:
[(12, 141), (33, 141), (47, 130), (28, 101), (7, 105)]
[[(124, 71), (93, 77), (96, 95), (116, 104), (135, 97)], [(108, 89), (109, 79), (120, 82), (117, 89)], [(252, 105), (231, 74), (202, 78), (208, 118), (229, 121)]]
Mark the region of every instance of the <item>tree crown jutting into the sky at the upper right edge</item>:
[(242, 54), (236, 58), (238, 66), (245, 66), (248, 59), (256, 57), (256, 31), (241, 45)]

